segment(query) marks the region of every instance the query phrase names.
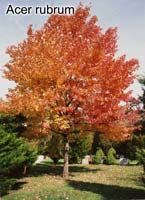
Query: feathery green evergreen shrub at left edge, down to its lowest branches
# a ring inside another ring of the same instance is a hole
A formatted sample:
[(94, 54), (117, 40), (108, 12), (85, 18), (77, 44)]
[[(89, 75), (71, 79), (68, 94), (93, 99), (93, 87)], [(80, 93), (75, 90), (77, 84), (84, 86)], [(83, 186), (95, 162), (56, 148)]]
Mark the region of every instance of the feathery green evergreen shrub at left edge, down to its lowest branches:
[(16, 134), (8, 133), (0, 125), (0, 193), (5, 194), (16, 182), (15, 177), (30, 167), (37, 158), (37, 152)]

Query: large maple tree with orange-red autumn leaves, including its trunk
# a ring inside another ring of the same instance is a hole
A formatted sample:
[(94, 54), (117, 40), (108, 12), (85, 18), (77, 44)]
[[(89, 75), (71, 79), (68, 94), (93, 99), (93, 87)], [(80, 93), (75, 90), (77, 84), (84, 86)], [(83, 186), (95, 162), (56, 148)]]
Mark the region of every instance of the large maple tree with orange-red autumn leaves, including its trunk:
[[(16, 83), (1, 109), (22, 113), (37, 134), (61, 134), (65, 141), (63, 177), (68, 177), (69, 137), (77, 128), (120, 124), (115, 139), (125, 138), (137, 120), (128, 86), (136, 59), (116, 57), (117, 29), (103, 32), (80, 5), (73, 15), (51, 15), (40, 30), (29, 26), (27, 39), (10, 46), (4, 76)], [(126, 102), (121, 105), (120, 102)], [(109, 134), (110, 137), (110, 134)]]

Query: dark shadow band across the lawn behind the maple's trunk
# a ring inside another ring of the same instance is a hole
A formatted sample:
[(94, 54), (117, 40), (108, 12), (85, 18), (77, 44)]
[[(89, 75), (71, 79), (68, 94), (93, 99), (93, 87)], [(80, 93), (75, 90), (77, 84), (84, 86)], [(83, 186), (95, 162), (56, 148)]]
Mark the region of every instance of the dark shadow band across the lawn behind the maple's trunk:
[[(52, 165), (50, 163), (41, 163), (33, 166), (33, 168), (28, 172), (27, 176), (39, 176), (43, 174), (48, 174), (52, 176), (62, 176), (62, 171), (63, 171), (63, 165)], [(74, 172), (97, 172), (100, 171), (100, 169), (89, 169), (85, 166), (82, 165), (71, 165), (69, 166), (69, 171), (70, 171), (70, 176), (71, 173)]]

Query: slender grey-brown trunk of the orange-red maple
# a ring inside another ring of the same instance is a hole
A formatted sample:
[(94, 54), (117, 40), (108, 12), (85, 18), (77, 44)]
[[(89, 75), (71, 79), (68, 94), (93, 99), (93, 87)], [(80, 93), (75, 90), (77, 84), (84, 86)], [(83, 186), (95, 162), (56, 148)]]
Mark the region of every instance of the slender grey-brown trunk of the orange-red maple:
[(69, 153), (69, 139), (66, 135), (64, 137), (64, 165), (63, 165), (63, 178), (68, 179), (69, 177), (69, 166), (68, 166), (68, 153)]

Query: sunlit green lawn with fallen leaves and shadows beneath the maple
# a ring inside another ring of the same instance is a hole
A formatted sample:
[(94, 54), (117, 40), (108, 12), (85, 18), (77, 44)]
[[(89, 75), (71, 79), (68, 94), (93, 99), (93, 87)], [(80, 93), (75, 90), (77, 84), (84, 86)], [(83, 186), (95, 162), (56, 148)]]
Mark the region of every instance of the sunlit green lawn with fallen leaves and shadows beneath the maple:
[(61, 172), (62, 165), (38, 164), (2, 200), (145, 199), (142, 166), (70, 165), (68, 181)]

